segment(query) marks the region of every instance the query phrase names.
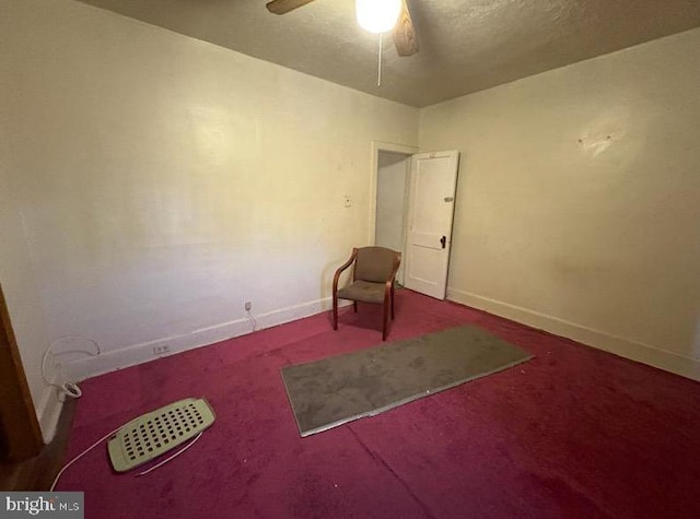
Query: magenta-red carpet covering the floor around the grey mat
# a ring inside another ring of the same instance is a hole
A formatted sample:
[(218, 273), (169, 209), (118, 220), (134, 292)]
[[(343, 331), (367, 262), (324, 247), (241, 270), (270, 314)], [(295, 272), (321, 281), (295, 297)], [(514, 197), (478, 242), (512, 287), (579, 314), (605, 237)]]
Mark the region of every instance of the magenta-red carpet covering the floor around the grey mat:
[(700, 384), (399, 291), (389, 340), (475, 323), (528, 350), (515, 368), (301, 438), (280, 368), (381, 342), (381, 310), (328, 315), (83, 384), (69, 458), (147, 411), (206, 397), (214, 425), (142, 476), (106, 448), (58, 489), (88, 518), (697, 518)]

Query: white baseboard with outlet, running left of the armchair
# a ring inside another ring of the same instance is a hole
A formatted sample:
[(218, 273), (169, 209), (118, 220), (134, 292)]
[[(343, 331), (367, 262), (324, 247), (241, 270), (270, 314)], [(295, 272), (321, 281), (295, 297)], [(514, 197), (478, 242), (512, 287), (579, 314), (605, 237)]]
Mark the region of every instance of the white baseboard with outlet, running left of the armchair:
[[(346, 306), (347, 303), (340, 304)], [(331, 307), (330, 297), (317, 299), (313, 302), (302, 303), (299, 305), (280, 308), (267, 314), (256, 315), (256, 330), (271, 328), (285, 322), (310, 317), (322, 311), (326, 311)], [(118, 350), (112, 350), (94, 357), (86, 357), (66, 365), (69, 369), (71, 378), (74, 380), (85, 380), (97, 375), (115, 371), (137, 364), (143, 364), (156, 358), (173, 355), (175, 353), (207, 346), (217, 342), (225, 341), (235, 337), (245, 335), (253, 332), (253, 323), (247, 319), (237, 319), (234, 321), (222, 322), (199, 330), (194, 330), (184, 335), (164, 337), (155, 341), (133, 344)], [(163, 355), (155, 355), (153, 347), (167, 344), (170, 352)]]

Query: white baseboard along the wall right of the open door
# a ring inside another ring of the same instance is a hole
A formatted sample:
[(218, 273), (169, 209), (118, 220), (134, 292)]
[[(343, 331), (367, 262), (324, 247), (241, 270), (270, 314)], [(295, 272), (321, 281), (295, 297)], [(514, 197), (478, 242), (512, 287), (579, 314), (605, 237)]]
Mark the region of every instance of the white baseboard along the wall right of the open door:
[(691, 356), (664, 350), (663, 347), (644, 344), (625, 339), (600, 330), (594, 330), (575, 322), (569, 322), (558, 317), (540, 314), (500, 300), (483, 297), (457, 288), (447, 288), (447, 298), (474, 308), (486, 310), (497, 316), (505, 317), (534, 328), (539, 328), (557, 335), (581, 342), (588, 346), (620, 355), (666, 371), (675, 373), (700, 381), (700, 361)]

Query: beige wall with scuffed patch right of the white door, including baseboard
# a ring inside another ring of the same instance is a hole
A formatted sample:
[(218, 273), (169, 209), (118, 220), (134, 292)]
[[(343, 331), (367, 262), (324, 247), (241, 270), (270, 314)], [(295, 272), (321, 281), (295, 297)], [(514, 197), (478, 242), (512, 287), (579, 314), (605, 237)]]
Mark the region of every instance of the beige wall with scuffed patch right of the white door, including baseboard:
[(450, 295), (700, 377), (700, 30), (421, 110)]

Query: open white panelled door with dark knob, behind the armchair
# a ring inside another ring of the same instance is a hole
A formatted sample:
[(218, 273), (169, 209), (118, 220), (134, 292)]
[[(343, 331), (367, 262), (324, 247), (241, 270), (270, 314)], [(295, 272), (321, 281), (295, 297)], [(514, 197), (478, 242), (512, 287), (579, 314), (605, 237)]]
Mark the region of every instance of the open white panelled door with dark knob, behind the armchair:
[(411, 157), (405, 286), (438, 299), (447, 291), (459, 152)]

